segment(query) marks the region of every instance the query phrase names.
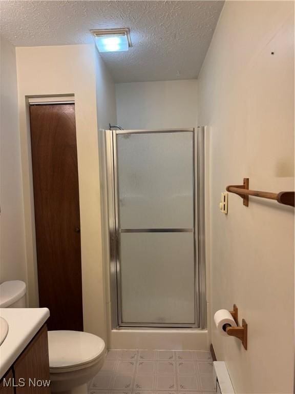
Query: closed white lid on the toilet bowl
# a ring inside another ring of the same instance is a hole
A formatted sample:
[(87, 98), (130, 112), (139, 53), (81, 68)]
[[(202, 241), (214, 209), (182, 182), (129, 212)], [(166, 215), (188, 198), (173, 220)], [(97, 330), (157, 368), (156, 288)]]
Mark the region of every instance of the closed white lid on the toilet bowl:
[(72, 368), (104, 354), (104, 341), (81, 331), (48, 331), (50, 369)]

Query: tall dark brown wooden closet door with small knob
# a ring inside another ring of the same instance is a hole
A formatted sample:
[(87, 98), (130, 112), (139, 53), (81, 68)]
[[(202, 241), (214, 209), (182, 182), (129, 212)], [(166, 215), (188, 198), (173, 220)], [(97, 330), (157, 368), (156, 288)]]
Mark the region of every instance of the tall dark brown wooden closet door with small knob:
[(39, 304), (48, 329), (83, 330), (75, 106), (31, 105), (30, 120)]

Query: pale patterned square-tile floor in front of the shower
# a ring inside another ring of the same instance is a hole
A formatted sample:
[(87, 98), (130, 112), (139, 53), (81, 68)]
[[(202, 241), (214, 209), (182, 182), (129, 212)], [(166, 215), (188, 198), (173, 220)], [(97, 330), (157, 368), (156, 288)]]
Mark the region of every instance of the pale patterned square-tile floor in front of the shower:
[(213, 394), (208, 351), (109, 350), (89, 394)]

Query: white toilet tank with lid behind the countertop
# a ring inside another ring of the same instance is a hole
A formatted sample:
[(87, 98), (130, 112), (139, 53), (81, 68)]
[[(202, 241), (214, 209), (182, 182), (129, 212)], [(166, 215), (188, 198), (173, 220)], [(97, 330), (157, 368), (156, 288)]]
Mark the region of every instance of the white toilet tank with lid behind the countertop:
[(0, 285), (0, 308), (26, 308), (26, 292), (25, 282), (3, 282)]

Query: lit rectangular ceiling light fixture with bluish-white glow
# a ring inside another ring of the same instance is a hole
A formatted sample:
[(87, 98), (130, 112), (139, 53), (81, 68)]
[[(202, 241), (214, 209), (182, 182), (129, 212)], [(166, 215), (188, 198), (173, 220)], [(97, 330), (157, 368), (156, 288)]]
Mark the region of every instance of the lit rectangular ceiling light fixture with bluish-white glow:
[(99, 52), (128, 51), (131, 47), (130, 31), (128, 28), (91, 30)]

